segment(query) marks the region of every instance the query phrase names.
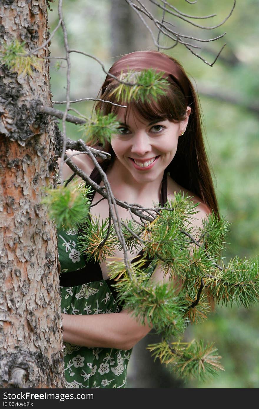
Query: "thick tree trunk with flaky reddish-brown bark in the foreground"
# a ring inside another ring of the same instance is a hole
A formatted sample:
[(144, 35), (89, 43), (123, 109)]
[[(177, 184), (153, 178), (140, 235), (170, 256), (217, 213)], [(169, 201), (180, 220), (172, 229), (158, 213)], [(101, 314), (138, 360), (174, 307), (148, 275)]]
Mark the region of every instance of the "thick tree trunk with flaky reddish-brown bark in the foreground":
[[(2, 44), (47, 39), (46, 1), (3, 0)], [(45, 47), (38, 57), (48, 56)], [(17, 75), (0, 66), (0, 387), (61, 388), (63, 359), (54, 225), (41, 200), (55, 183), (48, 60)]]

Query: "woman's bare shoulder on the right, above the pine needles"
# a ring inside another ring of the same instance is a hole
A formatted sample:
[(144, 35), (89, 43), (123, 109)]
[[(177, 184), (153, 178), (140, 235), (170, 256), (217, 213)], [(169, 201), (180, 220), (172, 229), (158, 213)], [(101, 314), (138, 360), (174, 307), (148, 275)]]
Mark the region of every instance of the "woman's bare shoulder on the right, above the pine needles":
[(203, 220), (205, 220), (211, 213), (211, 209), (194, 193), (188, 191), (184, 187), (180, 186), (178, 183), (174, 182), (171, 178), (168, 179), (168, 199), (174, 199), (176, 193), (184, 193), (185, 196), (189, 197), (195, 204), (198, 203), (196, 207), (197, 213), (190, 219), (191, 224), (196, 227), (202, 227)]

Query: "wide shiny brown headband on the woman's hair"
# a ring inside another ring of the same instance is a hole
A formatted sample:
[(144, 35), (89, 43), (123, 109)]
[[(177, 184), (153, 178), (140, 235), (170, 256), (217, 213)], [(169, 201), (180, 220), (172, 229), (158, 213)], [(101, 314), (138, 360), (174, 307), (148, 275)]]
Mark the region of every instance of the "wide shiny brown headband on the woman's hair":
[[(126, 54), (110, 67), (109, 73), (119, 77), (122, 72), (131, 70), (138, 72), (148, 68), (164, 72), (163, 78), (171, 83), (176, 83), (182, 90), (186, 103), (188, 103), (190, 89), (187, 77), (171, 58), (158, 51), (135, 51)], [(102, 87), (102, 93), (111, 81), (113, 81), (113, 78), (107, 75)]]

